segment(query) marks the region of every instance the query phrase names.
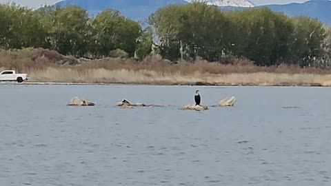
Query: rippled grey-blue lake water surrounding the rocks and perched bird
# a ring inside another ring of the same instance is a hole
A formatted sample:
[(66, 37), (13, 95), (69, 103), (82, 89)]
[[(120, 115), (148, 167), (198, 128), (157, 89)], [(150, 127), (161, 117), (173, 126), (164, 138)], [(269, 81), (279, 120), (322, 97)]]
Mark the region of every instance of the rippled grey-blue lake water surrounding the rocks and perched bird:
[[(196, 89), (237, 104), (179, 110)], [(0, 85), (0, 99), (0, 185), (331, 185), (331, 88)]]

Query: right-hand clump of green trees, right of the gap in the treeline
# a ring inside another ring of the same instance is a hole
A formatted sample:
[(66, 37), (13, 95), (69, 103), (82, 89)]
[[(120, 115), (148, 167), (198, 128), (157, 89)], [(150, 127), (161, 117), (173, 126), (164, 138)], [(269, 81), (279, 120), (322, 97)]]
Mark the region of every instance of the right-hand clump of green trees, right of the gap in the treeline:
[(149, 23), (168, 59), (222, 61), (243, 57), (257, 65), (330, 65), (330, 33), (317, 19), (287, 17), (269, 8), (221, 11), (204, 3), (161, 8)]

